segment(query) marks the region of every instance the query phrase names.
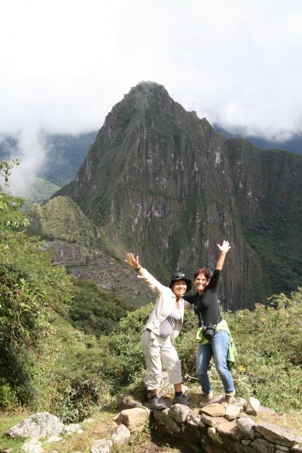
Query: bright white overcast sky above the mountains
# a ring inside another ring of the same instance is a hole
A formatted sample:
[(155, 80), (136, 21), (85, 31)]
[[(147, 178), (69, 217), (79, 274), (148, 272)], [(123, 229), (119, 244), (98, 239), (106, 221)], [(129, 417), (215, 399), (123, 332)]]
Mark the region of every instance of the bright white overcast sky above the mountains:
[(0, 50), (0, 134), (27, 153), (143, 80), (228, 130), (302, 132), (301, 0), (1, 0)]

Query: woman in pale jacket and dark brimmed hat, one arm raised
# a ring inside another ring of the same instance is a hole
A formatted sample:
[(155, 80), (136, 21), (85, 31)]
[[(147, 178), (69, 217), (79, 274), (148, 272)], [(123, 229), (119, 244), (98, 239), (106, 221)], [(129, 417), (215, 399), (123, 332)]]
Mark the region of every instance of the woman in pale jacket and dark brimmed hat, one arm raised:
[(153, 408), (165, 409), (165, 401), (160, 393), (162, 365), (168, 371), (170, 384), (174, 385), (175, 396), (173, 403), (188, 405), (187, 396), (182, 393), (181, 362), (173, 345), (180, 333), (185, 309), (192, 310), (192, 304), (182, 296), (191, 289), (192, 282), (184, 273), (173, 274), (170, 285), (163, 286), (146, 269), (139, 264), (139, 257), (127, 253), (124, 260), (137, 271), (139, 279), (156, 295), (154, 309), (144, 327), (141, 343), (146, 360), (147, 389), (153, 394)]

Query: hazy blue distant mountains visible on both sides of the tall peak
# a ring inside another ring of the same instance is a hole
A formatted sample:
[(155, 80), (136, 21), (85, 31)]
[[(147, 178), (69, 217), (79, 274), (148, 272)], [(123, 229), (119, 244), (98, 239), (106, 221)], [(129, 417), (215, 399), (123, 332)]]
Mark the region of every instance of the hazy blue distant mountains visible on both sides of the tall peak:
[[(269, 141), (263, 137), (245, 136), (244, 130), (230, 132), (219, 125), (213, 125), (214, 130), (227, 138), (245, 137), (255, 147), (260, 149), (279, 149), (294, 151), (302, 154), (302, 135), (294, 134), (291, 139), (284, 142)], [(15, 187), (14, 178), (11, 180), (11, 188), (15, 195), (28, 198), (29, 202), (42, 202), (47, 200), (56, 190), (74, 180), (79, 167), (86, 157), (88, 149), (93, 144), (98, 131), (82, 132), (80, 134), (50, 134), (38, 132), (33, 137), (33, 143), (40, 142), (44, 155), (41, 157), (41, 147), (35, 149), (33, 144), (28, 144), (26, 153), (18, 134), (0, 136), (0, 159), (10, 160), (15, 157), (21, 159), (18, 167)], [(29, 154), (29, 155), (28, 155)], [(35, 168), (28, 165), (28, 159), (40, 161)], [(12, 176), (15, 176), (13, 171)], [(20, 183), (21, 181), (21, 183)]]

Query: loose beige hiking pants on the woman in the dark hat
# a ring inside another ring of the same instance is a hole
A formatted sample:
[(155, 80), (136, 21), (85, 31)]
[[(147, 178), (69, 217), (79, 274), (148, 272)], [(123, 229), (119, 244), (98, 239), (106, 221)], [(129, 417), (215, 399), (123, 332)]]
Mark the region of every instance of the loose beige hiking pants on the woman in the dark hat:
[(144, 382), (148, 390), (159, 389), (161, 386), (162, 365), (168, 371), (170, 384), (182, 382), (181, 362), (170, 336), (162, 338), (147, 330), (143, 332), (141, 344), (147, 366)]

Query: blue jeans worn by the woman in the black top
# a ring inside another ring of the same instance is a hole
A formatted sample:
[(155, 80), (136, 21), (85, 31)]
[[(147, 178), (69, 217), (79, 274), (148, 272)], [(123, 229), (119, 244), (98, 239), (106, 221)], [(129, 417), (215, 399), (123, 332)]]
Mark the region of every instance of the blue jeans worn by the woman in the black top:
[(225, 393), (229, 394), (235, 389), (231, 372), (226, 363), (229, 341), (230, 338), (226, 331), (216, 331), (209, 343), (198, 345), (196, 356), (197, 377), (204, 394), (209, 394), (211, 391), (208, 368), (212, 355), (214, 355), (215, 367), (223, 383)]

